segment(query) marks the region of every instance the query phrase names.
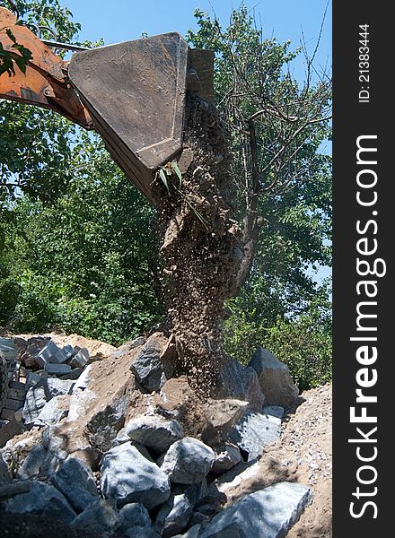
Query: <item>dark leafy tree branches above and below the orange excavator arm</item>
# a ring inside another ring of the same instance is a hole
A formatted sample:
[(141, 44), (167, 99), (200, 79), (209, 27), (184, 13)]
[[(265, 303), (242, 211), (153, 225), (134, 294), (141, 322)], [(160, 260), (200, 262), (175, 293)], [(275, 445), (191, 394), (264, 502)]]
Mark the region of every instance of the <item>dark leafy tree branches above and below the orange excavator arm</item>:
[[(46, 39), (55, 32), (59, 41), (70, 42), (81, 29), (58, 0), (0, 0), (0, 6), (12, 9), (32, 30), (40, 27)], [(0, 129), (0, 204), (21, 192), (49, 202), (65, 191), (73, 178), (69, 162), (78, 139), (75, 125), (54, 112), (1, 100)]]

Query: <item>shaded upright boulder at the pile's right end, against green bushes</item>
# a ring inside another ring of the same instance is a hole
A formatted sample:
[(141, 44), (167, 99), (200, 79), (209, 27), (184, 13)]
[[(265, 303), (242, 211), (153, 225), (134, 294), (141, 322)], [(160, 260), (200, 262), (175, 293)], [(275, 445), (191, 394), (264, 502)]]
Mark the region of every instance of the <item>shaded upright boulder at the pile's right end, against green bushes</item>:
[(286, 364), (270, 351), (259, 347), (250, 360), (259, 378), (259, 385), (266, 396), (266, 404), (289, 407), (299, 395), (299, 391), (289, 375)]

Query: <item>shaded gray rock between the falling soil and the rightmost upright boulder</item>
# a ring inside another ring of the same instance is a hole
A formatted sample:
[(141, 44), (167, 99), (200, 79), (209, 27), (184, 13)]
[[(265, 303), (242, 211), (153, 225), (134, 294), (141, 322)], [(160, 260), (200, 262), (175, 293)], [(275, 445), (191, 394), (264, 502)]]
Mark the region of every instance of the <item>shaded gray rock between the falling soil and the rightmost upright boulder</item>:
[(242, 400), (249, 403), (250, 409), (259, 412), (262, 410), (265, 395), (254, 369), (245, 368), (238, 360), (226, 357), (221, 364), (219, 376), (221, 383), (218, 398)]

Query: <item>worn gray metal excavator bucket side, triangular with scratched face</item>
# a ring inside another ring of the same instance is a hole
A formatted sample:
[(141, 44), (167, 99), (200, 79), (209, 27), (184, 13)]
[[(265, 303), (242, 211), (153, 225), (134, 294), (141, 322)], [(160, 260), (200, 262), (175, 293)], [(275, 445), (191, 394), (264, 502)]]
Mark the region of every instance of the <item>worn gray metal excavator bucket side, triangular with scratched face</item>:
[(154, 170), (181, 151), (188, 45), (178, 33), (78, 52), (68, 74), (113, 158), (152, 201)]

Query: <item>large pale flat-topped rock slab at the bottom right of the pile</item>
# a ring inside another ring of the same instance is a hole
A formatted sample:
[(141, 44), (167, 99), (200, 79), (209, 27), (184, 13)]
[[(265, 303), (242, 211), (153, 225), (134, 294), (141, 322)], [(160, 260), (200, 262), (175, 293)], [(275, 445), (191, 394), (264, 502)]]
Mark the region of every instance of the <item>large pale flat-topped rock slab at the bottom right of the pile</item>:
[(278, 482), (250, 493), (214, 517), (201, 538), (284, 538), (312, 499), (312, 490)]

